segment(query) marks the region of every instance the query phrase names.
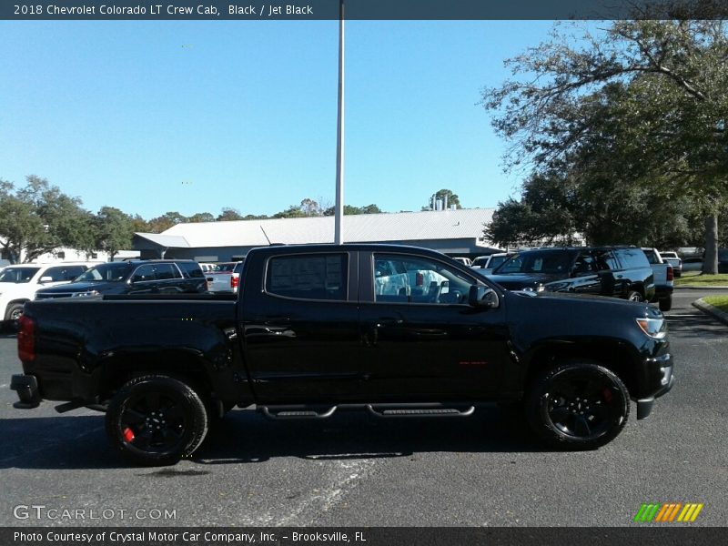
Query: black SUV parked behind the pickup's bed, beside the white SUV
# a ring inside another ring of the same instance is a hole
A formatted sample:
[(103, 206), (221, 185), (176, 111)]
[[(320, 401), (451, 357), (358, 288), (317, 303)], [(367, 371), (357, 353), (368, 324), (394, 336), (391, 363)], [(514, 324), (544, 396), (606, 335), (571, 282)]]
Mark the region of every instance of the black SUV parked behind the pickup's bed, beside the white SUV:
[(207, 280), (196, 261), (151, 259), (101, 264), (70, 284), (38, 290), (35, 299), (196, 292), (207, 292)]

